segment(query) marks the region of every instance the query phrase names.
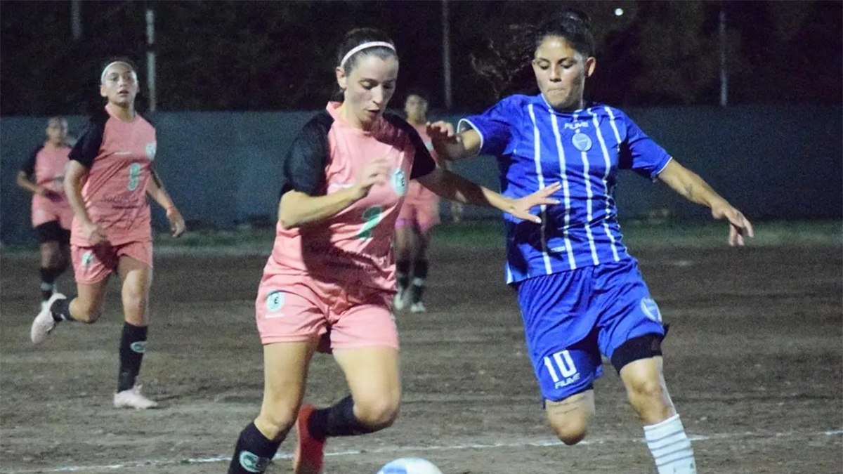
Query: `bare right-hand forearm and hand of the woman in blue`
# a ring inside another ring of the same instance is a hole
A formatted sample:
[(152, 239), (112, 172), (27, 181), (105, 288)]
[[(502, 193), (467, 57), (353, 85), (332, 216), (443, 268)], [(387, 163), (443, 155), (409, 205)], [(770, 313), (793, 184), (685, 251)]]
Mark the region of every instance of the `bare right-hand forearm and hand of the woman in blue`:
[(695, 172), (671, 159), (658, 174), (658, 180), (670, 186), (686, 199), (711, 208), (711, 216), (729, 221), (729, 245), (744, 245), (744, 236), (754, 237), (752, 224), (744, 214), (720, 197)]

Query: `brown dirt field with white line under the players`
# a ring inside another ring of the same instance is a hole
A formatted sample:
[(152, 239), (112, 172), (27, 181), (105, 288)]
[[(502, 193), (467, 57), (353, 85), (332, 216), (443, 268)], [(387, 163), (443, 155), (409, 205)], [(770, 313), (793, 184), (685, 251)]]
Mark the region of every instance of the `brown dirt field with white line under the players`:
[[(595, 386), (598, 414), (587, 440), (556, 441), (514, 294), (502, 283), (502, 250), (434, 244), (430, 312), (397, 318), (400, 418), (379, 434), (331, 439), (326, 472), (374, 474), (404, 456), (427, 458), (446, 474), (655, 472), (609, 364)], [(631, 250), (672, 324), (666, 379), (695, 439), (699, 471), (843, 471), (840, 246)], [(116, 282), (98, 324), (63, 324), (46, 347), (30, 344), (36, 258), (0, 261), (0, 471), (224, 472), (260, 406), (253, 304), (266, 256), (158, 252), (141, 381), (164, 407), (148, 412), (111, 407)], [(71, 280), (62, 284), (68, 289)], [(307, 400), (329, 404), (345, 393), (333, 360), (317, 356)], [(289, 471), (293, 436), (271, 472)]]

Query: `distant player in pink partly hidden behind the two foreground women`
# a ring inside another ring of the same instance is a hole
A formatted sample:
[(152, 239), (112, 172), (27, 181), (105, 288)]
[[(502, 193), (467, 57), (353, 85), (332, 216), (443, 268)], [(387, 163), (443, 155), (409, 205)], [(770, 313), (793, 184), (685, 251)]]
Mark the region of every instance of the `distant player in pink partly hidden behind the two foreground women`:
[[(414, 93), (404, 102), (406, 121), (416, 129), (427, 151), (437, 160), (427, 137), (427, 98)], [(418, 180), (411, 180), (398, 219), (395, 220), (395, 310), (410, 303), (411, 313), (426, 311), (421, 295), (427, 279), (427, 245), (430, 232), (439, 224), (439, 197)]]

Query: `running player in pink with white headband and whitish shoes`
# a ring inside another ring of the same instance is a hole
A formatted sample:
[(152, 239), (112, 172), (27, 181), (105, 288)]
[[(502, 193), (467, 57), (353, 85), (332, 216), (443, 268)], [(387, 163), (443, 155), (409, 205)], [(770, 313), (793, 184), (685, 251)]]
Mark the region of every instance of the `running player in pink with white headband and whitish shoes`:
[(138, 83), (127, 61), (110, 62), (100, 76), (105, 109), (91, 117), (70, 152), (65, 191), (73, 209), (71, 254), (78, 296), (53, 294), (32, 323), (32, 342), (44, 342), (62, 320), (93, 323), (102, 315), (111, 273), (122, 280), (126, 322), (114, 406), (151, 408), (157, 403), (135, 385), (146, 350), (153, 244), (147, 194), (167, 211), (175, 236), (185, 220), (153, 168), (155, 128), (135, 111)]

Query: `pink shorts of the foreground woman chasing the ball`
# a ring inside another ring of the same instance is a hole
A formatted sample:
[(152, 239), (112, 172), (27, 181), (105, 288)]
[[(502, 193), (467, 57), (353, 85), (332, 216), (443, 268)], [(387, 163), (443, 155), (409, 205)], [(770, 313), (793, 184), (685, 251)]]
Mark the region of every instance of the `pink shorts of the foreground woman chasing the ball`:
[(391, 294), (354, 298), (334, 284), (264, 274), (255, 300), (260, 342), (303, 342), (320, 337), (319, 351), (349, 347), (398, 348)]

